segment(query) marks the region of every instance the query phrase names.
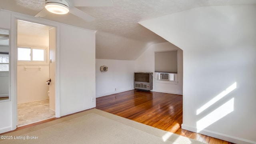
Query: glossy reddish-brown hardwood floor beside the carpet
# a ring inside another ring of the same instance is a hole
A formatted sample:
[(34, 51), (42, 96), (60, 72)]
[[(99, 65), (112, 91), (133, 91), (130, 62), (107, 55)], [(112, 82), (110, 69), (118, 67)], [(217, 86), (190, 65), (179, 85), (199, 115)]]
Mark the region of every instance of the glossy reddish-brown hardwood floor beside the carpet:
[(96, 108), (207, 144), (234, 144), (181, 129), (181, 95), (130, 90), (96, 98)]

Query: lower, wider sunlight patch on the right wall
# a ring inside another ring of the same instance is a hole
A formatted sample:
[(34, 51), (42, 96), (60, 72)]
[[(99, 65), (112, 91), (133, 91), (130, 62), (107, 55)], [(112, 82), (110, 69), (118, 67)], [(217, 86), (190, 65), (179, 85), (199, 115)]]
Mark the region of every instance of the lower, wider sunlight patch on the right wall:
[(218, 107), (216, 110), (212, 111), (210, 114), (198, 120), (196, 122), (197, 132), (200, 132), (204, 128), (210, 126), (214, 122), (220, 120), (224, 116), (228, 115), (230, 112), (234, 111), (234, 98), (230, 99), (228, 102)]

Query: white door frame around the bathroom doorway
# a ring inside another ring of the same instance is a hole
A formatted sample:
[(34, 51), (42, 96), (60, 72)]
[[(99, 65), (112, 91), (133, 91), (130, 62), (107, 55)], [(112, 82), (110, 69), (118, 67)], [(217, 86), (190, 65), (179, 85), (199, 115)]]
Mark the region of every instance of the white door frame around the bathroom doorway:
[(11, 14), (11, 126), (16, 129), (18, 124), (18, 103), (17, 103), (17, 20), (24, 20), (38, 24), (45, 24), (56, 28), (56, 67), (55, 67), (55, 116), (60, 117), (60, 24), (41, 18), (25, 16), (23, 14)]

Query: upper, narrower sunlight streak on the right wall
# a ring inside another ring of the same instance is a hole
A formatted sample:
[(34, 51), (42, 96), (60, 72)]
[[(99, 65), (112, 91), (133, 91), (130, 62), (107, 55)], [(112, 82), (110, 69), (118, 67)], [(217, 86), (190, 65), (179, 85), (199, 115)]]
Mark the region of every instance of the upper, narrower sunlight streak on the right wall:
[(224, 90), (223, 92), (215, 96), (212, 100), (210, 100), (209, 102), (207, 102), (206, 104), (198, 108), (196, 110), (196, 115), (200, 114), (201, 112), (209, 108), (212, 104), (218, 102), (218, 100), (220, 100), (221, 98), (223, 98), (224, 96), (232, 92), (234, 89), (236, 89), (236, 82), (232, 84), (230, 87), (226, 88), (226, 90)]

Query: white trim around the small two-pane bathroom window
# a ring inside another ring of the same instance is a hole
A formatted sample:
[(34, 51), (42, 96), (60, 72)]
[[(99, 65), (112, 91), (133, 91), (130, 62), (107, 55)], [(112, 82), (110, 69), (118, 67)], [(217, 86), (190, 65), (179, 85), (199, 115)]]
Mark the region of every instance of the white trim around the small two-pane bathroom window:
[[(30, 48), (31, 60), (18, 60), (18, 64), (48, 64), (48, 46), (17, 46), (17, 48)], [(44, 61), (32, 60), (32, 49), (43, 49), (44, 50)], [(18, 51), (18, 50), (17, 50)]]

